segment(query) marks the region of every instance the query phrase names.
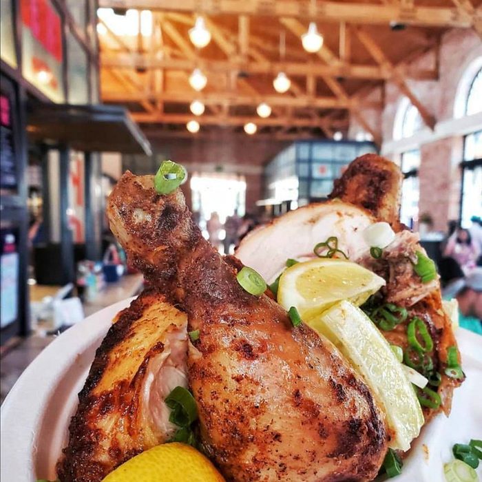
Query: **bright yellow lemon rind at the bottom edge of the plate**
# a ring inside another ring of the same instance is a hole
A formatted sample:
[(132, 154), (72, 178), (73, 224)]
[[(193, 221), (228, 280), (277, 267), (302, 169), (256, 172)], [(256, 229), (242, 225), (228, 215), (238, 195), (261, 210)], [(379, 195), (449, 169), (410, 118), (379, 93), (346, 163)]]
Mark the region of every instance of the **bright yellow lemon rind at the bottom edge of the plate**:
[(214, 465), (184, 443), (156, 446), (120, 465), (103, 482), (224, 482)]

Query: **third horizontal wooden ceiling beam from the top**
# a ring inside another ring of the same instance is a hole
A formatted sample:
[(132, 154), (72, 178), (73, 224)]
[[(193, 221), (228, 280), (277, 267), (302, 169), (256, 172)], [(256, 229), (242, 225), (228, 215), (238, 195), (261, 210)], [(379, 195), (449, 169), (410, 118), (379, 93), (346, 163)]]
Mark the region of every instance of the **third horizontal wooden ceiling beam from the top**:
[[(128, 103), (149, 100), (160, 100), (165, 103), (182, 103), (188, 104), (198, 99), (206, 105), (247, 105), (255, 107), (261, 102), (266, 102), (271, 107), (293, 107), (304, 108), (313, 107), (315, 109), (349, 109), (353, 105), (359, 105), (358, 100), (346, 98), (341, 100), (335, 97), (310, 97), (306, 95), (291, 97), (286, 95), (246, 95), (236, 92), (118, 92), (114, 90), (103, 90), (102, 98), (105, 102), (111, 103)], [(363, 104), (367, 108), (380, 108), (381, 103), (366, 102)]]

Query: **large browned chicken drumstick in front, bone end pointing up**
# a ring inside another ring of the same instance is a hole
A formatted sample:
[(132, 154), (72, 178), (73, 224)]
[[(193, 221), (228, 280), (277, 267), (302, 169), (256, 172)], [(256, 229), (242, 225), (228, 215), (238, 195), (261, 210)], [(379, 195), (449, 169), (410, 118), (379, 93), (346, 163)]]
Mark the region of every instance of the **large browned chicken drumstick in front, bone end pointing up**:
[(328, 340), (250, 295), (202, 238), (180, 191), (127, 172), (109, 198), (130, 262), (187, 313), (203, 450), (229, 481), (370, 481), (388, 435), (370, 391)]

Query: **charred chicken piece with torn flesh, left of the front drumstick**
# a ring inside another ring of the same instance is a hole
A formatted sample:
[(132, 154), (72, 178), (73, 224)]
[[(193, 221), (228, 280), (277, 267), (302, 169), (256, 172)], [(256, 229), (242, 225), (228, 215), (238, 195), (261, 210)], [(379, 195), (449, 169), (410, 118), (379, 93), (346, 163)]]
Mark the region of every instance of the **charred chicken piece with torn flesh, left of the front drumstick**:
[(186, 315), (157, 291), (145, 291), (119, 313), (78, 395), (57, 464), (62, 482), (101, 481), (176, 430), (163, 398), (175, 386), (187, 386), (186, 324)]

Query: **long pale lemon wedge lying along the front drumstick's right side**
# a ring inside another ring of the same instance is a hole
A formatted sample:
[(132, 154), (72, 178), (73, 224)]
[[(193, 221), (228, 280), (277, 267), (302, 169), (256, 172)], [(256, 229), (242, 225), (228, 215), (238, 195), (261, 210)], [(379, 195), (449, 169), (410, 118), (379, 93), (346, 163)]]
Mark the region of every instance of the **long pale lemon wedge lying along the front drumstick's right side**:
[(342, 301), (308, 325), (326, 336), (362, 375), (386, 415), (388, 446), (408, 450), (423, 426), (423, 413), (412, 384), (390, 345), (365, 313)]

